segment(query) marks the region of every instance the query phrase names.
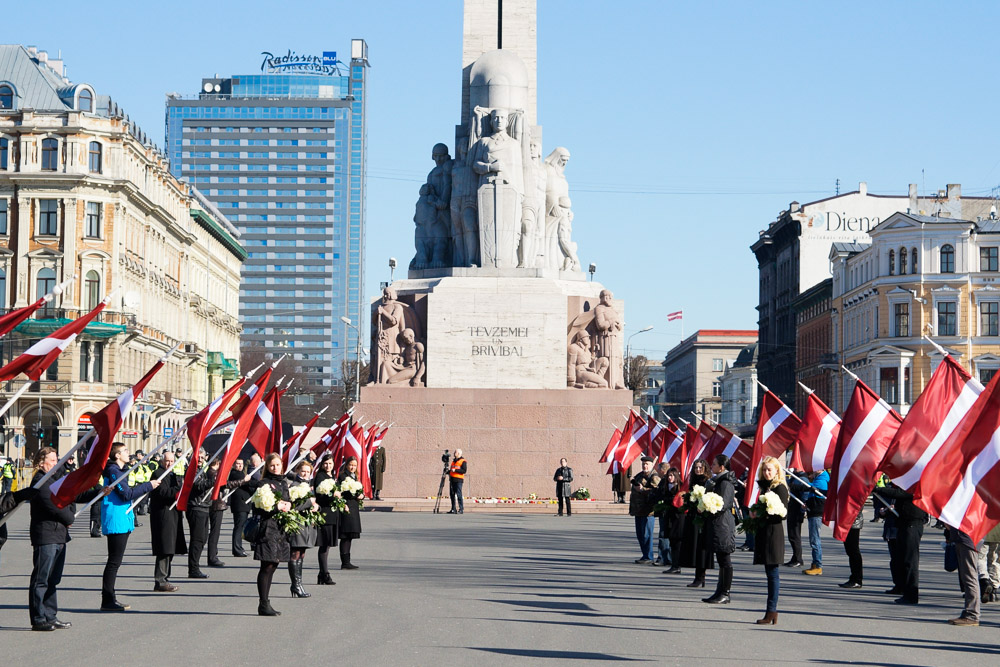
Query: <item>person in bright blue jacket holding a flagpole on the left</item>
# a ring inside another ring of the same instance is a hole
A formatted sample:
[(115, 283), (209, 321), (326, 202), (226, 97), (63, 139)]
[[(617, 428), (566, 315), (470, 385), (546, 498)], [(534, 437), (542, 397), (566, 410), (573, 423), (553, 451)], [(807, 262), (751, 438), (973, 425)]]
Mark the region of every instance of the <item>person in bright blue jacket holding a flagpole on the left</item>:
[[(116, 442), (111, 445), (111, 456), (104, 468), (104, 485), (109, 486), (118, 480), (128, 464), (128, 450), (125, 445)], [(108, 562), (104, 566), (104, 578), (101, 583), (101, 611), (125, 611), (129, 608), (118, 602), (115, 597), (115, 580), (118, 578), (118, 568), (125, 556), (125, 546), (128, 536), (135, 530), (135, 515), (129, 507), (136, 498), (149, 493), (160, 485), (158, 480), (143, 482), (135, 486), (128, 485), (128, 478), (115, 484), (111, 492), (101, 501), (101, 530), (108, 538)]]

